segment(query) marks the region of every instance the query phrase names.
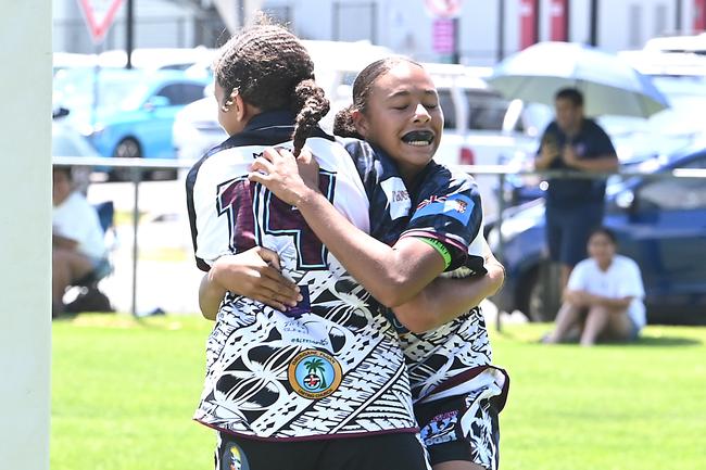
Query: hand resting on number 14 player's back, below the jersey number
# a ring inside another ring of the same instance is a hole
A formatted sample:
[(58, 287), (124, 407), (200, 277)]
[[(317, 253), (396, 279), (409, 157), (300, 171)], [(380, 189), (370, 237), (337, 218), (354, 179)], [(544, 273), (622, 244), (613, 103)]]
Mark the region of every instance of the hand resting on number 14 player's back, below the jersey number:
[(219, 257), (209, 276), (226, 290), (286, 312), (301, 300), (299, 288), (285, 278), (277, 253), (255, 246)]

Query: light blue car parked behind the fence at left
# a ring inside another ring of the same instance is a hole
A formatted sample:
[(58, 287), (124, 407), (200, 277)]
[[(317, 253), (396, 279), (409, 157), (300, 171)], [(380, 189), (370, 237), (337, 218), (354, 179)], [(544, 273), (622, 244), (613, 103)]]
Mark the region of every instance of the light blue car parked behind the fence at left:
[(54, 80), (54, 103), (103, 156), (174, 158), (174, 116), (211, 80), (182, 71), (70, 71)]

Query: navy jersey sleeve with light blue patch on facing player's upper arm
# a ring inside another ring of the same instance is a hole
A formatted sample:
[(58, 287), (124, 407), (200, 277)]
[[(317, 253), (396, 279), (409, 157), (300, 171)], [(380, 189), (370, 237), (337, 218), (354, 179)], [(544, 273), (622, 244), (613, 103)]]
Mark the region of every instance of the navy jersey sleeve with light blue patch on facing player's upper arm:
[(423, 181), (416, 201), (417, 206), (401, 238), (438, 240), (452, 255), (446, 270), (464, 266), (469, 246), (482, 229), (482, 207), (476, 181), (470, 175), (454, 174), (437, 165)]

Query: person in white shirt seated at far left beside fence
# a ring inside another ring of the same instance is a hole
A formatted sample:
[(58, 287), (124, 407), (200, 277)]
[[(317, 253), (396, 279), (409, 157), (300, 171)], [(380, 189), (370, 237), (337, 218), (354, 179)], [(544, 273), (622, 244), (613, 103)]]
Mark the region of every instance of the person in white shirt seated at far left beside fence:
[(103, 229), (86, 198), (74, 191), (70, 167), (53, 169), (52, 317), (64, 312), (70, 285), (83, 284), (108, 263)]

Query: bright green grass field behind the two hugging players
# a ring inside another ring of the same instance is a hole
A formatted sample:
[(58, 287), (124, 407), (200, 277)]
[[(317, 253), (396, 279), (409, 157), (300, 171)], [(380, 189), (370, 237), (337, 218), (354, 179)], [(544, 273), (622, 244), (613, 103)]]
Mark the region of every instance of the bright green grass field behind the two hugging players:
[[(54, 321), (52, 470), (213, 468), (214, 435), (191, 421), (209, 327)], [(636, 344), (592, 350), (537, 344), (546, 329), (493, 332), (512, 376), (503, 470), (706, 469), (706, 329), (650, 327)]]

